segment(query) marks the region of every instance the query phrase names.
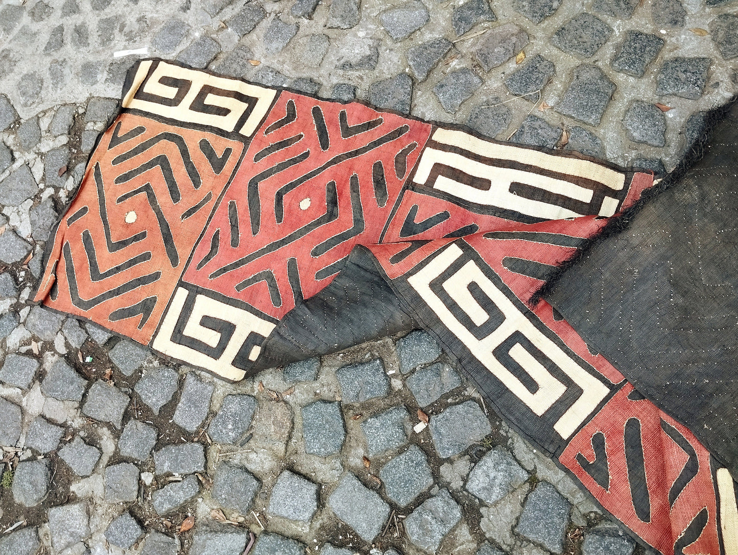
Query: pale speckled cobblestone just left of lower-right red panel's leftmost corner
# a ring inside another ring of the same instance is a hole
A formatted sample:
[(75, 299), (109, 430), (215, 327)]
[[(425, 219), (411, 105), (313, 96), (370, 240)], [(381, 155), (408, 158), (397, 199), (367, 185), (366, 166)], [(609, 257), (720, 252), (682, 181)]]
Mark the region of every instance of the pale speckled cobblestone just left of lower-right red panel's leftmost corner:
[(528, 472), (503, 449), (484, 455), (469, 473), (466, 489), (488, 505), (494, 505), (528, 480)]

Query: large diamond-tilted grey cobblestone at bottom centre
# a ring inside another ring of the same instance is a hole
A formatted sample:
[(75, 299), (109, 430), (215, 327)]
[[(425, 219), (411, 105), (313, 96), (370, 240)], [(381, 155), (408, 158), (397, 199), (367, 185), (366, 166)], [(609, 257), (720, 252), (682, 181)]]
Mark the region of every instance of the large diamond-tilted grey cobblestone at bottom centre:
[(365, 542), (371, 542), (382, 531), (390, 514), (390, 506), (348, 472), (328, 498), (328, 508)]

